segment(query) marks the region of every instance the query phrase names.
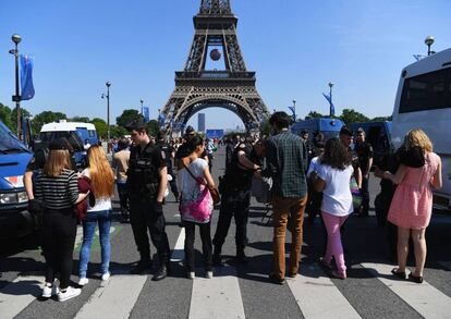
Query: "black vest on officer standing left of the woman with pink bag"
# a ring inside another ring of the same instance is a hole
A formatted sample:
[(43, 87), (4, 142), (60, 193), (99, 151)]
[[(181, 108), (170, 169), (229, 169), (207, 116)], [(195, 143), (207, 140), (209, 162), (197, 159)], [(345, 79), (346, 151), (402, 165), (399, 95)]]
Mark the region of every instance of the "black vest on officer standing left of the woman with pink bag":
[(146, 197), (156, 197), (159, 186), (158, 163), (153, 162), (155, 152), (160, 148), (148, 144), (143, 151), (141, 146), (132, 148), (129, 161), (127, 181), (129, 189)]

